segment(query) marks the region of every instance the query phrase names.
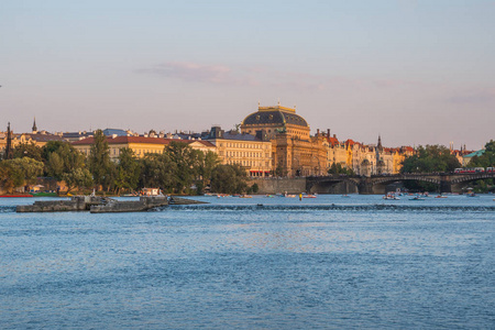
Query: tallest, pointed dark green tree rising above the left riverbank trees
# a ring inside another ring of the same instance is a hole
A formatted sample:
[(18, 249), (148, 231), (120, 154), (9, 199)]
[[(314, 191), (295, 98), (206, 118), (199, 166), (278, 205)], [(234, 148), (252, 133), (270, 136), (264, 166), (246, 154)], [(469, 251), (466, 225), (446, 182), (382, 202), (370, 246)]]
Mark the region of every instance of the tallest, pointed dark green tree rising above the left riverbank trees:
[(91, 145), (88, 164), (89, 170), (92, 174), (92, 179), (96, 185), (101, 185), (105, 189), (109, 189), (113, 180), (114, 166), (110, 161), (110, 152), (105, 136), (101, 130), (95, 132), (95, 142)]

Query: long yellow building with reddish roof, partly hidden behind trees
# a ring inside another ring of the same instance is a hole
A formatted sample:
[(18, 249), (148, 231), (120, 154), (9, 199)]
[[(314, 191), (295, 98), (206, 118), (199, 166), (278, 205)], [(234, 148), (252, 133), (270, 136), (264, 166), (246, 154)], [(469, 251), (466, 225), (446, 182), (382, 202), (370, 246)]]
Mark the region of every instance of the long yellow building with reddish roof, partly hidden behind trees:
[[(144, 138), (144, 136), (116, 136), (107, 138), (107, 143), (109, 146), (110, 158), (117, 161), (120, 154), (120, 150), (124, 147), (131, 148), (138, 157), (143, 157), (145, 154), (162, 154), (166, 145), (170, 142), (183, 142), (188, 144), (195, 150), (200, 150), (202, 152), (216, 152), (216, 146), (208, 141), (201, 140), (172, 140), (172, 139), (161, 139), (161, 138)], [(72, 144), (78, 151), (80, 151), (86, 156), (89, 155), (91, 145), (95, 143), (94, 138), (84, 139), (80, 141), (75, 141)]]

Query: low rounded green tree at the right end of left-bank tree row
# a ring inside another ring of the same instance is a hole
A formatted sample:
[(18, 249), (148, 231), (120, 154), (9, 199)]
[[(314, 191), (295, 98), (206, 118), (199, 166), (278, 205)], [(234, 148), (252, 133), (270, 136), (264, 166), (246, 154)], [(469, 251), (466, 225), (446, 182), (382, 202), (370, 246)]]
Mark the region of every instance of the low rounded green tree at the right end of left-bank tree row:
[(211, 175), (211, 190), (222, 194), (242, 194), (248, 190), (248, 176), (238, 164), (219, 165)]

